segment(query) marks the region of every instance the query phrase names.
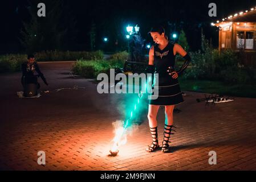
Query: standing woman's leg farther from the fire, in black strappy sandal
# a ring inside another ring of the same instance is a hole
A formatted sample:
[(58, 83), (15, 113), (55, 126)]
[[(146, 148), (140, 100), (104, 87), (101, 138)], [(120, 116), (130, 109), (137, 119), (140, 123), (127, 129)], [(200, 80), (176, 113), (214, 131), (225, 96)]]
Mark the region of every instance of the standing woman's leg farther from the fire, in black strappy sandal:
[(169, 138), (173, 127), (173, 110), (175, 105), (165, 106), (164, 140), (162, 141), (162, 152), (169, 152)]

